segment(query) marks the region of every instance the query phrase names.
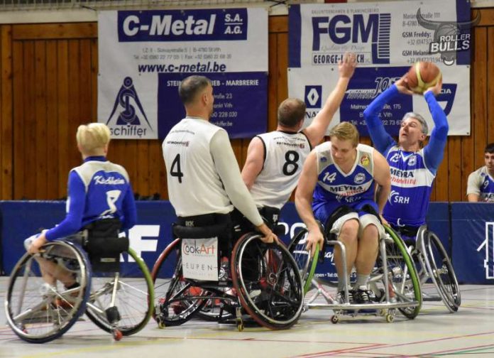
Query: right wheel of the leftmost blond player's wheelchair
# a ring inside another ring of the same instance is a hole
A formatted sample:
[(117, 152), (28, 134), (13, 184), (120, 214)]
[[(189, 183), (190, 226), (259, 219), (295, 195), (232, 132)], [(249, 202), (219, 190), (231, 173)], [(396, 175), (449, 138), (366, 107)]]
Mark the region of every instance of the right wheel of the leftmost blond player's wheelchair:
[(87, 317), (102, 330), (117, 329), (124, 336), (143, 329), (153, 314), (154, 301), (148, 266), (133, 249), (128, 249), (127, 256), (119, 273), (93, 273), (86, 308)]

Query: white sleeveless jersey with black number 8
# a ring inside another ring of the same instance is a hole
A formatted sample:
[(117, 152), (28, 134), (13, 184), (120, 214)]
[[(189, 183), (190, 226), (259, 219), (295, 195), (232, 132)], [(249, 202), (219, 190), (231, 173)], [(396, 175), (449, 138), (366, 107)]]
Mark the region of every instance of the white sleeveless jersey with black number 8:
[(251, 187), (258, 207), (281, 209), (290, 199), (311, 147), (302, 132), (272, 131), (258, 136), (264, 145), (264, 166)]

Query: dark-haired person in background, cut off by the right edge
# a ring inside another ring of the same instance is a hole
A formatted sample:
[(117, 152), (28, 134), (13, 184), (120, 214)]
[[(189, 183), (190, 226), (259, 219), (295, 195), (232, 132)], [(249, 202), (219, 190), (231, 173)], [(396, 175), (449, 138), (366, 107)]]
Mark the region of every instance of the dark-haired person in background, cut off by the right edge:
[(485, 166), (468, 175), (469, 202), (494, 202), (494, 143), (485, 146)]

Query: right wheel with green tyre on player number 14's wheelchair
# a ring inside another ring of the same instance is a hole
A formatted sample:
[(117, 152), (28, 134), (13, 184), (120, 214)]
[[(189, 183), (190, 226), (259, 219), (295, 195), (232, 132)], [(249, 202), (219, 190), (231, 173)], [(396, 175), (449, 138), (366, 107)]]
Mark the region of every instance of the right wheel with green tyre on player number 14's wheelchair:
[(412, 302), (415, 300), (419, 303), (415, 307), (399, 308), (405, 317), (413, 319), (417, 317), (422, 306), (422, 291), (420, 291), (417, 269), (403, 240), (393, 229), (386, 225), (384, 227), (385, 231), (393, 239), (393, 243), (386, 244), (388, 279), (391, 288), (393, 288), (393, 290), (390, 290), (390, 295), (394, 295), (398, 302)]

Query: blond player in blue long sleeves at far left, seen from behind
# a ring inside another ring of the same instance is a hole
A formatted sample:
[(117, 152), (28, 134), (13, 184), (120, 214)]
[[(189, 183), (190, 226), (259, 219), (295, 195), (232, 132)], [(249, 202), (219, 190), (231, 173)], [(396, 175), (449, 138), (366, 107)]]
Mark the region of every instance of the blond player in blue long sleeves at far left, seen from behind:
[[(24, 244), (30, 254), (37, 253), (46, 242), (70, 237), (97, 220), (120, 219), (121, 229), (136, 224), (136, 203), (128, 174), (124, 167), (106, 159), (109, 128), (101, 123), (82, 125), (76, 139), (83, 163), (69, 173), (67, 215), (52, 229), (26, 239)], [(48, 284), (59, 280), (67, 288), (77, 285), (69, 271), (51, 261), (38, 258), (38, 262)]]

